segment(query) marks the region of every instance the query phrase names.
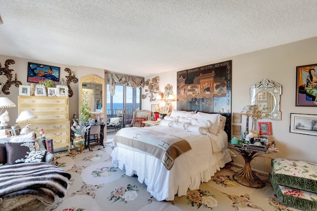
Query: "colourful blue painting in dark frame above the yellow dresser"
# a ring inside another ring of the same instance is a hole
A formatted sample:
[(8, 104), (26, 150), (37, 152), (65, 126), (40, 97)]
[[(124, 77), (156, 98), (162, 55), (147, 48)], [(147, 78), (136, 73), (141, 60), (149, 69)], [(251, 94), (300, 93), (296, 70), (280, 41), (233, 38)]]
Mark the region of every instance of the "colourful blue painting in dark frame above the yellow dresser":
[(59, 67), (28, 62), (27, 82), (39, 83), (47, 79), (59, 82)]

